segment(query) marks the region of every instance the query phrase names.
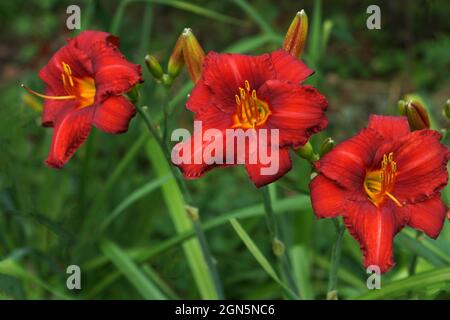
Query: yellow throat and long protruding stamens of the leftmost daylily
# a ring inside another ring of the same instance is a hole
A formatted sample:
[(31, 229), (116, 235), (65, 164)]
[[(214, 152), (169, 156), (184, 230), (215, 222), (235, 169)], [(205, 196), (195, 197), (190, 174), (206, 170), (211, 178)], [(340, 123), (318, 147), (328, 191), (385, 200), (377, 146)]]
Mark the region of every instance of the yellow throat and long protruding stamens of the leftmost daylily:
[(73, 76), (72, 69), (64, 61), (61, 63), (62, 73), (61, 81), (63, 83), (64, 90), (67, 95), (65, 96), (48, 96), (31, 90), (24, 84), (22, 87), (28, 90), (31, 94), (38, 97), (49, 99), (49, 100), (78, 100), (78, 108), (89, 107), (94, 104), (95, 97), (95, 81), (91, 77), (78, 78)]

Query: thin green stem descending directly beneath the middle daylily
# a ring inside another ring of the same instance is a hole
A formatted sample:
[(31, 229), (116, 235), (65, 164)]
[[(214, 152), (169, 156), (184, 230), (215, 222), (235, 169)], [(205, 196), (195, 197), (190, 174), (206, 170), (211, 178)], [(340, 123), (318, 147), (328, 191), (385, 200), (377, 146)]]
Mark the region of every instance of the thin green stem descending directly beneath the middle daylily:
[(283, 239), (280, 235), (280, 230), (278, 227), (278, 221), (275, 217), (272, 200), (270, 197), (269, 187), (265, 186), (261, 189), (261, 194), (263, 197), (264, 211), (266, 213), (267, 228), (269, 229), (270, 236), (272, 238), (272, 249), (275, 256), (278, 258), (283, 273), (288, 281), (289, 288), (299, 296), (299, 290), (295, 284), (294, 276), (291, 271), (289, 260), (286, 256), (286, 248)]

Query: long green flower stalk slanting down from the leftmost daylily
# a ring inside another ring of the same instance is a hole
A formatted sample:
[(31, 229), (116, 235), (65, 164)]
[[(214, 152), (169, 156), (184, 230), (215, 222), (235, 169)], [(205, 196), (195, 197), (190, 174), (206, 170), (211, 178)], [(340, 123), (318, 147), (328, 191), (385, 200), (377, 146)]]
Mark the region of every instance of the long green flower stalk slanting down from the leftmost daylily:
[[(170, 167), (170, 170), (171, 170), (173, 176), (175, 177), (175, 179), (183, 193), (185, 201), (187, 203), (192, 203), (192, 198), (190, 196), (189, 190), (187, 189), (186, 183), (185, 183), (183, 177), (181, 176), (180, 172), (173, 167), (172, 161), (170, 158), (170, 151), (169, 151), (167, 145), (165, 144), (165, 142), (161, 139), (161, 136), (160, 136), (158, 130), (156, 129), (152, 119), (150, 118), (150, 115), (147, 112), (145, 112), (145, 110), (138, 104), (136, 105), (136, 109), (137, 109), (138, 113), (142, 116), (142, 119), (144, 120), (151, 135), (155, 138), (156, 142), (158, 143), (159, 147), (161, 148), (161, 150), (164, 154), (164, 157), (166, 158), (166, 161)], [(210, 251), (208, 243), (206, 241), (205, 233), (200, 226), (198, 217), (192, 219), (192, 221), (194, 224), (195, 234), (200, 243), (200, 248), (202, 250), (203, 257), (206, 261), (206, 264), (208, 266), (208, 269), (211, 273), (211, 276), (212, 276), (212, 279), (214, 282), (214, 287), (216, 289), (217, 297), (219, 299), (224, 299), (223, 286), (220, 281), (219, 272), (217, 270), (216, 263), (214, 262), (214, 259), (211, 255), (211, 251)]]

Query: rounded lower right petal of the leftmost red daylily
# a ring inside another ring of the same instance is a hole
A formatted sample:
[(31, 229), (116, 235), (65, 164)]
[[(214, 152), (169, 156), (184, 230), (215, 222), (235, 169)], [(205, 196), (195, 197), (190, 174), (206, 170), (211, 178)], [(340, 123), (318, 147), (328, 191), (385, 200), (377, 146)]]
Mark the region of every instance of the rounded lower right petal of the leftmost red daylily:
[(94, 125), (107, 133), (123, 133), (136, 114), (134, 106), (122, 96), (112, 96), (96, 106)]

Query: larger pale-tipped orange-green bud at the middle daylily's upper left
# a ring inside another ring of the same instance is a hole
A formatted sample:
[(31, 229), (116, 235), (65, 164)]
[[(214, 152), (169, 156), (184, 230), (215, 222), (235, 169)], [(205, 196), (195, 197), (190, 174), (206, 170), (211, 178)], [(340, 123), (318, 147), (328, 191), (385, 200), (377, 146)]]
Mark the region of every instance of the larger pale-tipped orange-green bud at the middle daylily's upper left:
[(184, 62), (186, 63), (192, 81), (195, 83), (202, 75), (205, 52), (190, 28), (184, 29), (181, 36), (185, 39), (183, 43)]

